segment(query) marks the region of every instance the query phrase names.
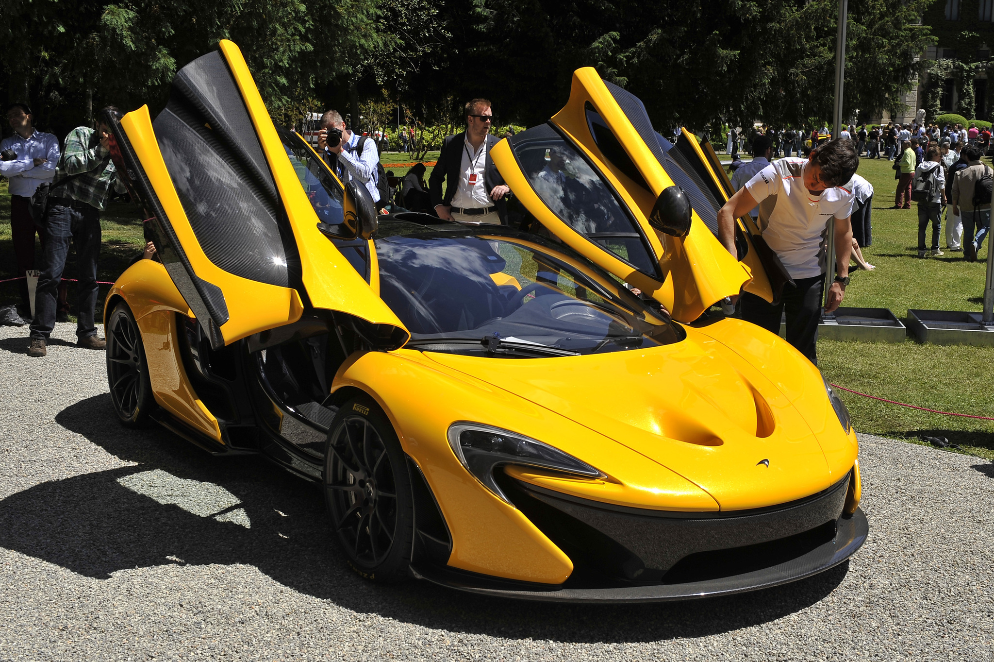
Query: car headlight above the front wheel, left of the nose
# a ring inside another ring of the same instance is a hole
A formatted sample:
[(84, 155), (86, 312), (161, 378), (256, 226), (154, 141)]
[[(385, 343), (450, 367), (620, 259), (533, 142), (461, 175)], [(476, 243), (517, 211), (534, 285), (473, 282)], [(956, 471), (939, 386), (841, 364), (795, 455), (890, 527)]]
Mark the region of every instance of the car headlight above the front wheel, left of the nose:
[(536, 466), (586, 478), (604, 476), (589, 464), (548, 443), (481, 423), (452, 423), (448, 428), (448, 445), (469, 473), (508, 503), (511, 503), (510, 499), (494, 480), (494, 470), (501, 464)]

